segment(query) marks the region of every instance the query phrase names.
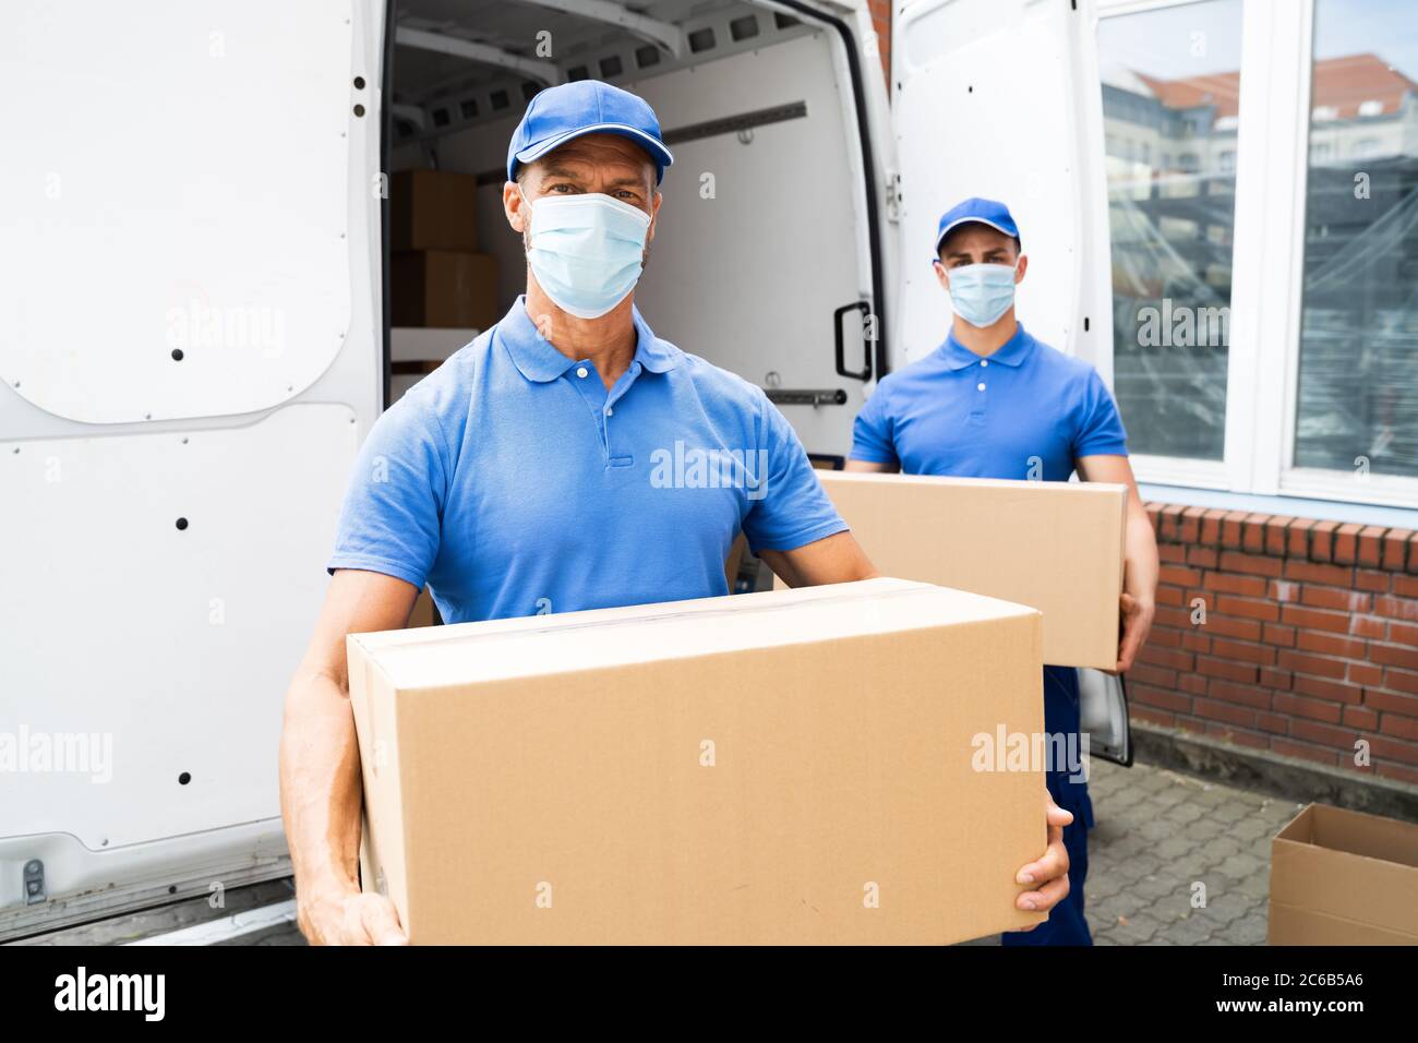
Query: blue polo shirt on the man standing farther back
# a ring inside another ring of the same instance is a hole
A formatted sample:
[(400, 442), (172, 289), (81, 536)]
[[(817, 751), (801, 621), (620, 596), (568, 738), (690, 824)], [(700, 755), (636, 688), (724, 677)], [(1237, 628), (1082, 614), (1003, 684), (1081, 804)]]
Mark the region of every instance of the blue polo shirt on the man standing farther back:
[(854, 460), (906, 474), (1068, 481), (1089, 456), (1127, 456), (1113, 396), (1098, 370), (1024, 324), (987, 358), (950, 333), (882, 379), (852, 433)]

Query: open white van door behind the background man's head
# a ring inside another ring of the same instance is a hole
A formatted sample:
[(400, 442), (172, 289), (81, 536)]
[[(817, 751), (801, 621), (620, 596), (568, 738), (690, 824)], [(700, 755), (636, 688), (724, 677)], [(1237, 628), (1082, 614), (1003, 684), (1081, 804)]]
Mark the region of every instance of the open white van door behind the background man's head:
[(1008, 204), (1029, 332), (1112, 383), (1112, 284), (1093, 0), (905, 0), (892, 87), (900, 167), (900, 368), (934, 351), (950, 301), (930, 264), (961, 199)]

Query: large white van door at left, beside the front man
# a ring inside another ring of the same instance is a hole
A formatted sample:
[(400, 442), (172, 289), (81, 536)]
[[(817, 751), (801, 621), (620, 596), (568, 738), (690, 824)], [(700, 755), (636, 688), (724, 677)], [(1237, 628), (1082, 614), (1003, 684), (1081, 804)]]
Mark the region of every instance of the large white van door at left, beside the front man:
[(289, 873), (381, 406), (383, 4), (0, 11), (0, 938)]

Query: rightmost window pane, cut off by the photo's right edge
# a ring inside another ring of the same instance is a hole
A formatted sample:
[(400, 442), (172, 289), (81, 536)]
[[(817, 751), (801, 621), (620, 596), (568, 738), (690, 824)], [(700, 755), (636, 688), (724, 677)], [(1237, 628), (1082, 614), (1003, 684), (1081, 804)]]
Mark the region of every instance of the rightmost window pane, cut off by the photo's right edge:
[[(1418, 477), (1418, 11), (1402, 10), (1314, 4), (1310, 138), (1323, 109), (1339, 148), (1312, 149), (1305, 190), (1295, 467)], [(1358, 82), (1384, 96), (1354, 105)]]

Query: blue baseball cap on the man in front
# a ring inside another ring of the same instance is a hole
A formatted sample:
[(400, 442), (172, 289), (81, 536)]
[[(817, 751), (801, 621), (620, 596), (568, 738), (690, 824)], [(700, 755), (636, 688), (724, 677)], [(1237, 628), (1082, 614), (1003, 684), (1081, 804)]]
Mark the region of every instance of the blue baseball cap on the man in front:
[(540, 159), (584, 133), (630, 138), (649, 153), (657, 184), (664, 179), (665, 167), (675, 162), (659, 139), (655, 109), (644, 98), (600, 79), (577, 79), (546, 88), (527, 105), (508, 145), (508, 180), (516, 180), (522, 163)]

